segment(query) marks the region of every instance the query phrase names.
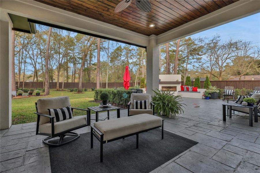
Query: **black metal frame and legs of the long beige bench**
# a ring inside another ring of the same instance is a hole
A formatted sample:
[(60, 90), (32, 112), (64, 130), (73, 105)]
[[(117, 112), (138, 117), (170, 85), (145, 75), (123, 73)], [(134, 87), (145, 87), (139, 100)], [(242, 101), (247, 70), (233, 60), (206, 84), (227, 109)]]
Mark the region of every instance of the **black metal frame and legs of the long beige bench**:
[(164, 119), (162, 119), (162, 125), (161, 126), (153, 127), (151, 129), (146, 129), (146, 130), (142, 130), (142, 131), (138, 131), (136, 133), (131, 133), (131, 134), (121, 136), (121, 137), (118, 137), (118, 138), (114, 138), (114, 139), (111, 139), (111, 140), (107, 140), (107, 141), (103, 141), (104, 134), (100, 130), (98, 130), (93, 124), (91, 124), (90, 125), (90, 127), (91, 127), (91, 132), (90, 132), (91, 146), (90, 146), (90, 148), (93, 148), (93, 135), (94, 135), (98, 139), (98, 141), (100, 142), (100, 162), (103, 162), (103, 144), (105, 144), (105, 143), (112, 142), (112, 141), (119, 140), (119, 139), (124, 139), (126, 137), (136, 135), (136, 149), (137, 149), (139, 147), (139, 145), (138, 145), (138, 143), (139, 143), (139, 139), (138, 139), (139, 133), (147, 132), (149, 130), (157, 129), (157, 128), (160, 128), (160, 127), (162, 127), (162, 139), (163, 139), (163, 121), (164, 121)]

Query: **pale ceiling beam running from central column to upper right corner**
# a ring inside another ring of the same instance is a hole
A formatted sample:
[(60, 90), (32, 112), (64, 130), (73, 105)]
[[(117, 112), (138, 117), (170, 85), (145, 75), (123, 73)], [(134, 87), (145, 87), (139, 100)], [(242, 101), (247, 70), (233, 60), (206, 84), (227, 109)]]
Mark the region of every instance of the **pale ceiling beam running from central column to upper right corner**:
[(256, 14), (258, 12), (260, 12), (259, 1), (240, 0), (158, 35), (156, 43), (158, 45), (168, 43), (179, 38), (199, 33), (201, 31), (205, 31), (207, 29), (211, 29), (237, 19), (250, 16), (252, 14)]

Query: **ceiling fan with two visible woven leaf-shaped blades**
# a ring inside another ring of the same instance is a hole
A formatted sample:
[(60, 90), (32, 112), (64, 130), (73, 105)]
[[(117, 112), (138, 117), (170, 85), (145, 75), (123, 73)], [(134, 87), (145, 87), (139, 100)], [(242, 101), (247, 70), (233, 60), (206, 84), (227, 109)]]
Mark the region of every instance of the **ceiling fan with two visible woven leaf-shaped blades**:
[[(117, 6), (115, 7), (115, 12), (118, 13), (118, 12), (123, 11), (130, 5), (131, 2), (132, 2), (132, 0), (123, 0), (123, 1), (119, 2), (117, 4)], [(150, 12), (152, 9), (151, 4), (148, 0), (136, 0), (135, 5), (139, 10), (141, 10), (143, 12)]]

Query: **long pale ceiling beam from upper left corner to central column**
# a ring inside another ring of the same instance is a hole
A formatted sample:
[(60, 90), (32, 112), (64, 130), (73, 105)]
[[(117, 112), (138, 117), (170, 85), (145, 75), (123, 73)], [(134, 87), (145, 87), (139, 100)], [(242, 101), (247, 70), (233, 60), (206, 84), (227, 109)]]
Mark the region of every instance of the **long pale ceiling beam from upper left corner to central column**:
[(1, 0), (1, 12), (16, 14), (33, 20), (71, 28), (84, 33), (120, 40), (139, 46), (147, 46), (149, 37), (127, 29), (100, 22), (33, 0)]

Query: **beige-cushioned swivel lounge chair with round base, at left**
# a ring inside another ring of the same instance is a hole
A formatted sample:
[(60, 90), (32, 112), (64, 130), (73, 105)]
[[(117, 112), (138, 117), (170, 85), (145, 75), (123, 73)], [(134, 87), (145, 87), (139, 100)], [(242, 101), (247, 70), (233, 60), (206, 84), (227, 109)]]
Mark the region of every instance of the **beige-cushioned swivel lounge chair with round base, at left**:
[[(73, 117), (71, 114), (70, 118), (68, 119), (65, 118), (65, 120), (58, 121), (56, 119), (57, 118), (56, 114), (55, 116), (49, 115), (50, 110), (48, 109), (58, 109), (58, 108), (62, 109), (62, 108), (69, 107), (70, 99), (68, 96), (38, 99), (35, 105), (36, 105), (36, 112), (34, 113), (37, 114), (36, 135), (39, 134), (39, 135), (48, 136), (47, 138), (42, 140), (43, 143), (46, 145), (61, 146), (64, 144), (68, 144), (80, 137), (78, 133), (72, 131), (90, 125), (90, 110), (87, 109), (71, 108), (71, 113), (73, 113), (74, 109), (86, 111), (87, 118), (85, 116)], [(64, 112), (67, 112), (66, 109)], [(64, 112), (57, 111), (57, 113), (59, 114), (58, 117), (59, 118), (63, 117), (63, 119), (64, 116), (67, 117), (66, 115), (64, 115), (66, 114)], [(62, 116), (60, 116), (60, 114)], [(68, 114), (70, 114), (69, 110), (68, 110)], [(74, 136), (74, 138), (62, 143), (62, 140), (65, 136)], [(47, 141), (55, 137), (60, 137), (57, 144), (50, 143), (49, 141)]]

